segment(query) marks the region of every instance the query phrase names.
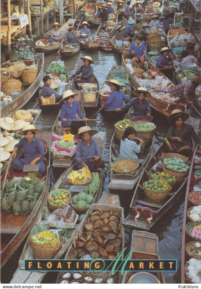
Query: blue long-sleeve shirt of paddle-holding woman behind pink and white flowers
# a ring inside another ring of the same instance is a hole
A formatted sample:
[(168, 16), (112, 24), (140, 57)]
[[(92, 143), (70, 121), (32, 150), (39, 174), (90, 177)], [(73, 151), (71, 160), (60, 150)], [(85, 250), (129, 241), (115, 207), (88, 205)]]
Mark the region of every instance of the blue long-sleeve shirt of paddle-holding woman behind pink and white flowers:
[(78, 119), (76, 117), (76, 113), (80, 116), (80, 118), (84, 117), (84, 114), (81, 111), (80, 105), (77, 101), (73, 101), (73, 106), (66, 101), (61, 107), (61, 125), (63, 127), (69, 127), (71, 125), (71, 121), (63, 122), (63, 119)]

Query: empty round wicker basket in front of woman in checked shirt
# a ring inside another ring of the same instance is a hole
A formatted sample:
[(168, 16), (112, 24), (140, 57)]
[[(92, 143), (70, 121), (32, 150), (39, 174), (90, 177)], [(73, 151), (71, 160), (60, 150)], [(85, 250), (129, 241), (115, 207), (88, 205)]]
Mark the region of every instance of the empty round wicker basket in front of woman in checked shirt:
[[(139, 167), (139, 163), (136, 160), (119, 160), (111, 163), (111, 168), (115, 174), (134, 175)], [(123, 172), (128, 170), (128, 172)]]

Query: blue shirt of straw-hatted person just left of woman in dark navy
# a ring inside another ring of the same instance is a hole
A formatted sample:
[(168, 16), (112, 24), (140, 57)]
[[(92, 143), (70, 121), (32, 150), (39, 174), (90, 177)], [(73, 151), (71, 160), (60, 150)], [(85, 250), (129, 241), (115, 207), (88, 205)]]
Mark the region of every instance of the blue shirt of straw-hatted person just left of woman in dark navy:
[(119, 108), (121, 105), (123, 105), (123, 100), (126, 102), (131, 101), (123, 92), (117, 91), (115, 89), (110, 93), (110, 96), (104, 103), (104, 108), (107, 110), (115, 110), (116, 108)]

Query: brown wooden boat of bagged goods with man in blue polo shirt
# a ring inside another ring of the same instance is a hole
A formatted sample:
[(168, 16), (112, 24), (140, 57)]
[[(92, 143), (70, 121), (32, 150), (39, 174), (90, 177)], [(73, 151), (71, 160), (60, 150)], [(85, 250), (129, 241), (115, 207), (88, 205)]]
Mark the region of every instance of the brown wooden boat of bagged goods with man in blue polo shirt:
[[(135, 89), (137, 89), (141, 85), (135, 79), (135, 77), (132, 75), (132, 73), (130, 73), (128, 67), (126, 66), (126, 58), (127, 58), (127, 56), (124, 55), (124, 53), (123, 53), (123, 58), (122, 58), (123, 66), (126, 69), (126, 72), (130, 75), (130, 82), (131, 82), (132, 86)], [(146, 71), (148, 71), (149, 69), (154, 70), (155, 72), (158, 73), (158, 75), (163, 76), (164, 80), (169, 81), (168, 89), (174, 86), (174, 84), (161, 71), (159, 71), (158, 68), (156, 68), (149, 60), (147, 61), (147, 64), (148, 64), (148, 67), (146, 68)], [(170, 103), (170, 102), (165, 102), (165, 101), (158, 100), (158, 99), (154, 98), (153, 95), (154, 95), (153, 91), (151, 91), (151, 95), (148, 97), (148, 100), (149, 100), (150, 106), (152, 108), (154, 108), (155, 110), (157, 110), (158, 112), (160, 112), (166, 116), (171, 115), (172, 110), (175, 110), (175, 109), (180, 109), (182, 111), (187, 112), (187, 108), (189, 106), (188, 103), (174, 104), (174, 103)]]

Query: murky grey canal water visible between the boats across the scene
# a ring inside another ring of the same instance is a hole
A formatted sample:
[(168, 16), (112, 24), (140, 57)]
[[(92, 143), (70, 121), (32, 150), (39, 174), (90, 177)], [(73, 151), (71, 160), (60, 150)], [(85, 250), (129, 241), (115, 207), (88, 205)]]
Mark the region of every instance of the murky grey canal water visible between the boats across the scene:
[[(85, 54), (86, 53), (86, 54)], [(84, 55), (89, 55), (92, 57), (95, 64), (93, 64), (94, 74), (99, 81), (100, 87), (104, 83), (105, 77), (108, 75), (109, 70), (114, 65), (121, 64), (121, 55), (111, 51), (105, 52), (97, 50), (93, 52), (93, 54), (88, 54), (87, 51), (80, 51), (77, 55), (64, 59), (64, 64), (67, 68), (69, 76), (71, 76), (76, 69), (77, 59), (83, 57)], [(49, 64), (53, 60), (58, 60), (59, 56), (56, 53), (45, 56), (45, 67), (44, 71), (47, 70)], [(174, 80), (173, 80), (174, 81)], [(30, 102), (25, 106), (24, 109), (28, 108), (40, 108), (38, 94), (36, 93), (34, 97), (30, 100)], [(86, 110), (86, 117), (90, 118), (97, 110)], [(47, 110), (42, 111), (40, 117), (36, 123), (36, 128), (42, 129), (44, 132), (51, 131), (54, 121), (58, 115), (58, 110)], [(154, 116), (154, 123), (157, 128), (156, 131), (159, 134), (167, 135), (167, 131), (169, 126), (167, 125), (166, 117), (158, 114), (156, 112), (152, 112)], [(104, 121), (98, 121), (99, 118), (103, 118), (101, 112), (97, 114), (97, 121), (91, 121), (88, 125), (91, 126), (92, 129), (97, 129), (99, 131), (106, 132), (106, 140), (104, 144), (104, 159), (109, 160), (109, 148), (110, 148), (110, 140), (114, 133), (114, 123), (115, 119)], [(94, 118), (95, 118), (94, 117)], [(195, 117), (198, 117), (195, 115)], [(155, 150), (161, 144), (162, 137), (155, 137)], [(55, 180), (58, 179), (62, 170), (52, 170), (52, 178), (51, 185), (54, 184)], [(109, 174), (108, 174), (108, 164), (104, 169), (104, 185), (103, 192), (109, 192), (108, 189), (109, 184)], [(112, 191), (112, 193), (118, 194), (120, 197), (121, 206), (124, 208), (125, 217), (129, 212), (129, 205), (132, 199), (134, 190), (132, 191)], [(181, 234), (182, 234), (182, 220), (183, 220), (183, 208), (184, 208), (184, 195), (183, 192), (180, 200), (174, 204), (174, 207), (171, 211), (167, 212), (165, 216), (161, 220), (159, 220), (153, 229), (150, 231), (151, 233), (157, 234), (158, 242), (159, 242), (159, 255), (161, 259), (176, 259), (177, 260), (177, 272), (165, 272), (165, 281), (166, 283), (180, 283), (180, 260), (181, 260)], [(125, 247), (130, 246), (132, 231), (128, 229), (125, 230)], [(17, 252), (14, 254), (12, 260), (9, 260), (7, 264), (1, 270), (1, 283), (9, 283), (12, 279), (12, 275), (16, 271), (18, 267), (18, 260), (20, 254), (23, 250), (25, 242), (19, 247)], [(56, 273), (51, 272), (48, 274), (48, 277), (43, 280), (43, 283), (55, 283)]]

